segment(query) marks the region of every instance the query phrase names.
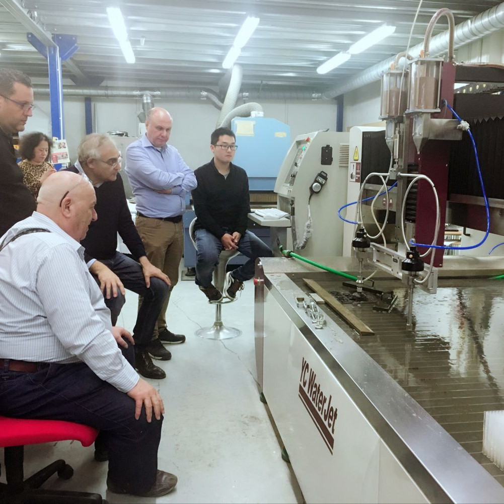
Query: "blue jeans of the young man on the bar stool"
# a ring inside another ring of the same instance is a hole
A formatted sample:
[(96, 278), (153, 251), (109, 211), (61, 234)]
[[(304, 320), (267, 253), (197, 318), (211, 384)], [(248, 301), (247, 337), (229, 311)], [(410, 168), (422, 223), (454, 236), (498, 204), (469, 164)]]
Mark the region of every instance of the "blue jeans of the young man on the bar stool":
[[(212, 273), (219, 262), (219, 254), (224, 248), (220, 238), (206, 229), (197, 229), (196, 238), (196, 284), (208, 287), (212, 283)], [(231, 234), (231, 233), (230, 233)], [(248, 261), (233, 271), (233, 278), (244, 282), (254, 276), (258, 257), (273, 257), (270, 247), (254, 233), (245, 231), (238, 242), (238, 251)]]

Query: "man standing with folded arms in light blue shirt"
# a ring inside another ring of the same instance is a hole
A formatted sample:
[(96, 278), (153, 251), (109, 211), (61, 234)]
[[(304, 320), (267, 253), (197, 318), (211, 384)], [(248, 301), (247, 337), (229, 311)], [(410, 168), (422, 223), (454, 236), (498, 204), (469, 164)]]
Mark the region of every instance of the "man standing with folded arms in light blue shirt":
[(160, 107), (149, 110), (146, 133), (126, 149), (125, 166), (137, 202), (135, 224), (147, 258), (168, 275), (171, 282), (149, 345), (151, 357), (162, 360), (170, 358), (162, 343), (185, 341), (185, 336), (168, 331), (165, 313), (170, 293), (178, 282), (182, 259), (185, 196), (197, 185), (193, 170), (175, 147), (167, 145), (171, 125), (172, 118), (167, 110)]

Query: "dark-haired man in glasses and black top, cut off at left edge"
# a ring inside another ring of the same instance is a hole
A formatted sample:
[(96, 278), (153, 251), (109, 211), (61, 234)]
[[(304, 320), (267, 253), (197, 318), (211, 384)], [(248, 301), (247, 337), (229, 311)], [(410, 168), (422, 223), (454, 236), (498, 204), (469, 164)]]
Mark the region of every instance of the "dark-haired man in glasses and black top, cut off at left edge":
[(0, 70), (0, 235), (28, 217), (35, 200), (23, 183), (23, 171), (16, 163), (12, 135), (24, 131), (31, 117), (33, 89), (30, 78), (17, 70)]

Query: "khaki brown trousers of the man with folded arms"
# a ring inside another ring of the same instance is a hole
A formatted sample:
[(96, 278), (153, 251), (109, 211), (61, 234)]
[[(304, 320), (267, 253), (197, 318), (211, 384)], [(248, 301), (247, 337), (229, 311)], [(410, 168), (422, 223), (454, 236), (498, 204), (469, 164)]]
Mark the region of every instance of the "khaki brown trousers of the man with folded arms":
[[(169, 222), (152, 217), (137, 216), (135, 220), (138, 233), (144, 242), (147, 259), (168, 275), (171, 282), (171, 288), (161, 307), (159, 317), (154, 327), (153, 339), (157, 338), (158, 333), (166, 328), (166, 309), (173, 287), (178, 282), (178, 268), (184, 249), (184, 230), (182, 221)], [(142, 298), (139, 297), (139, 306), (142, 304)]]

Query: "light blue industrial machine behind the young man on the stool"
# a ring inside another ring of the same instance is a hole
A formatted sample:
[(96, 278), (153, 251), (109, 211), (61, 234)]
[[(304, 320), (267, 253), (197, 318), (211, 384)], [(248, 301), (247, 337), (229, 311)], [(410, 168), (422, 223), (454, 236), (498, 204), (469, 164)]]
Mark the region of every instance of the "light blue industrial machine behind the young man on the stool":
[[(247, 172), (250, 206), (276, 207), (277, 199), (273, 188), (290, 148), (290, 127), (270, 117), (235, 117), (231, 121), (231, 130), (236, 135), (238, 145), (233, 163)], [(196, 266), (196, 249), (189, 238), (189, 224), (194, 218), (195, 211), (190, 204), (183, 215), (185, 268)], [(250, 221), (249, 229), (266, 243), (270, 242), (269, 228)], [(244, 258), (238, 255), (229, 264), (243, 262)]]

